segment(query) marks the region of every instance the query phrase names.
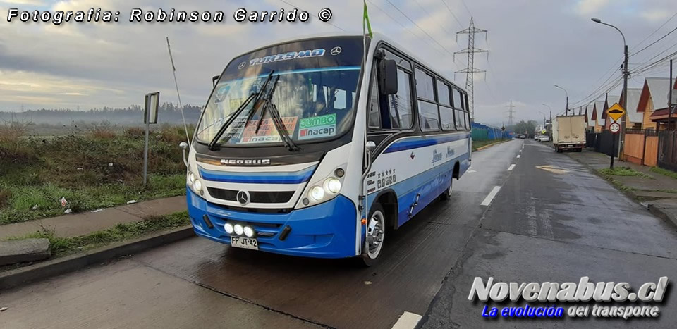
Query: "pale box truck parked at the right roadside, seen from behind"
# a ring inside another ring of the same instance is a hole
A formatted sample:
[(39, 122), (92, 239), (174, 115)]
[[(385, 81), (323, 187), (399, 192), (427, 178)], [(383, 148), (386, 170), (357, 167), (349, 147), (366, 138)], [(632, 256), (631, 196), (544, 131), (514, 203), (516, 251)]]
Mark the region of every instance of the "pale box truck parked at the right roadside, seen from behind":
[(558, 116), (552, 123), (552, 144), (555, 151), (583, 151), (585, 147), (585, 116)]

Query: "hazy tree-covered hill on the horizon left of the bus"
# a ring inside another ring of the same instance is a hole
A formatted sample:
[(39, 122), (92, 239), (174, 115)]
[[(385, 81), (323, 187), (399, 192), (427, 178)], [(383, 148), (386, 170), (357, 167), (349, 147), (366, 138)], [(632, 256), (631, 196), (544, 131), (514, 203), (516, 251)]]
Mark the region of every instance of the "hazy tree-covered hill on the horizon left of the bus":
[[(164, 103), (159, 106), (158, 123), (182, 123), (181, 111), (178, 106)], [(188, 124), (197, 123), (200, 118), (199, 106), (184, 105), (183, 113)], [(1, 112), (0, 123), (18, 120), (36, 125), (68, 125), (70, 123), (101, 123), (107, 121), (116, 125), (142, 125), (143, 109), (133, 105), (128, 108), (94, 108), (89, 111), (75, 111), (69, 109), (41, 109), (23, 112)]]

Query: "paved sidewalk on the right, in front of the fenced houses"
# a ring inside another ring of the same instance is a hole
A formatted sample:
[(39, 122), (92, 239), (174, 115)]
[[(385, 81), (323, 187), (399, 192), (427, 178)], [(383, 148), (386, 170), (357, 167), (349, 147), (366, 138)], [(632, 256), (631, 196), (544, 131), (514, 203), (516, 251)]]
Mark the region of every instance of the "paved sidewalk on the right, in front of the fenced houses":
[[(609, 168), (610, 159), (606, 154), (589, 150), (567, 154), (572, 159), (594, 170)], [(623, 192), (645, 204), (652, 213), (677, 225), (677, 180), (654, 173), (649, 170), (650, 167), (614, 159), (614, 168), (620, 167), (628, 167), (647, 176), (611, 175), (610, 177), (613, 178), (614, 182), (625, 189)]]

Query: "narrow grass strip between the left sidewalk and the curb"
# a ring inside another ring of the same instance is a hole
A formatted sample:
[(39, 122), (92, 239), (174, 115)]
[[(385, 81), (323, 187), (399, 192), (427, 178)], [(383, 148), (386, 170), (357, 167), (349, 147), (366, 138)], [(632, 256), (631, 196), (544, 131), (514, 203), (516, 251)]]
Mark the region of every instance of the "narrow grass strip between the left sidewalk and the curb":
[(121, 223), (113, 228), (92, 232), (78, 237), (56, 237), (53, 230), (42, 230), (21, 237), (10, 237), (8, 240), (21, 240), (28, 238), (46, 238), (51, 244), (52, 258), (67, 256), (75, 252), (102, 247), (106, 244), (131, 240), (142, 235), (171, 230), (181, 226), (190, 225), (188, 211), (171, 213), (165, 216), (151, 216), (143, 221)]

